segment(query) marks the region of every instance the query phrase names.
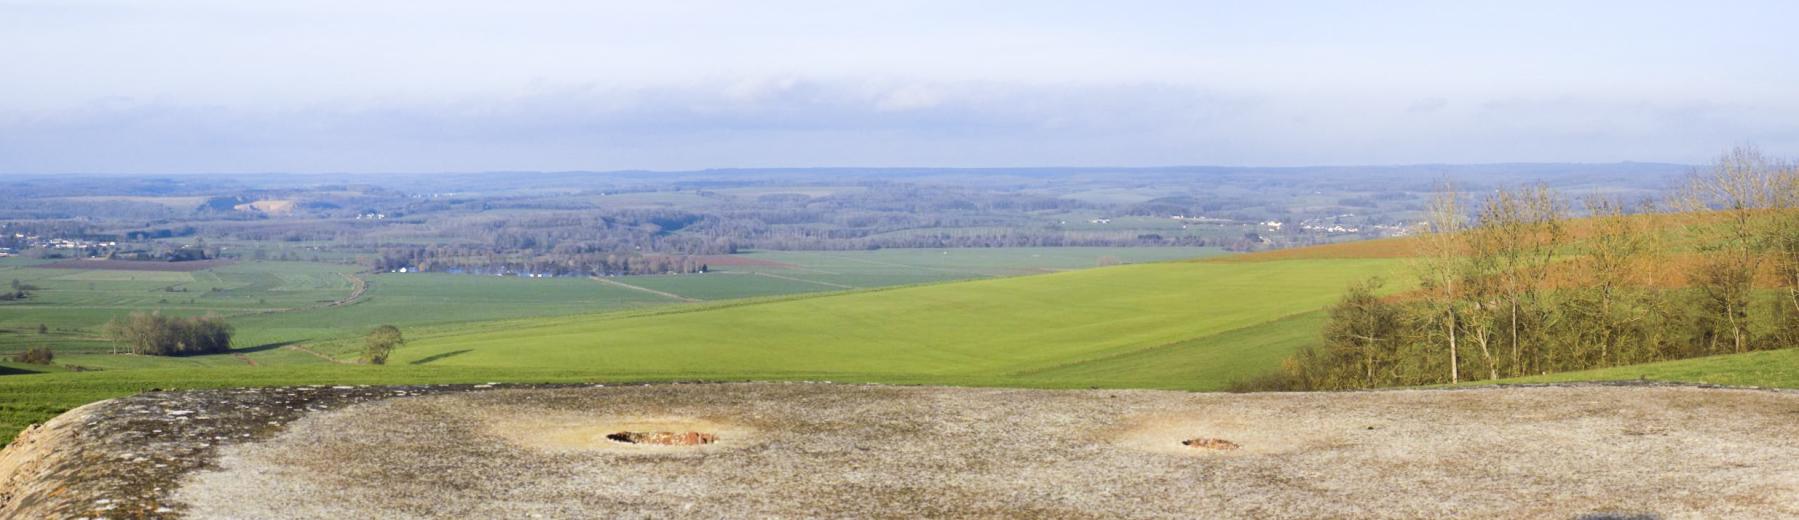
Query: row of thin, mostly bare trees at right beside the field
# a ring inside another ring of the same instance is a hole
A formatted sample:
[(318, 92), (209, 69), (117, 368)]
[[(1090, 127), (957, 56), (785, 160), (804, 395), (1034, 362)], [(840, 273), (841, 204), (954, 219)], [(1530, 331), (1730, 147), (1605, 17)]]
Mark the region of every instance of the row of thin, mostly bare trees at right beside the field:
[(1562, 200), (1497, 191), (1470, 220), (1445, 189), (1416, 241), (1416, 291), (1349, 288), (1322, 344), (1238, 389), (1457, 383), (1799, 345), (1799, 167), (1734, 149), (1642, 214), (1592, 198), (1571, 220)]

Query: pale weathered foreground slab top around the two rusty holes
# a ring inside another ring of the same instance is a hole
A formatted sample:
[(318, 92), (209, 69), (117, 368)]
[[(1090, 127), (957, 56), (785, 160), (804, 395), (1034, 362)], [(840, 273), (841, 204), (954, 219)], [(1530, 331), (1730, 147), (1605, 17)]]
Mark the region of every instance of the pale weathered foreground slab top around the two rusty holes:
[[(621, 430), (718, 443), (642, 446)], [(1214, 437), (1238, 450), (1195, 450)], [(1799, 394), (799, 383), (509, 389), (309, 414), (173, 493), (196, 518), (1799, 516)]]

